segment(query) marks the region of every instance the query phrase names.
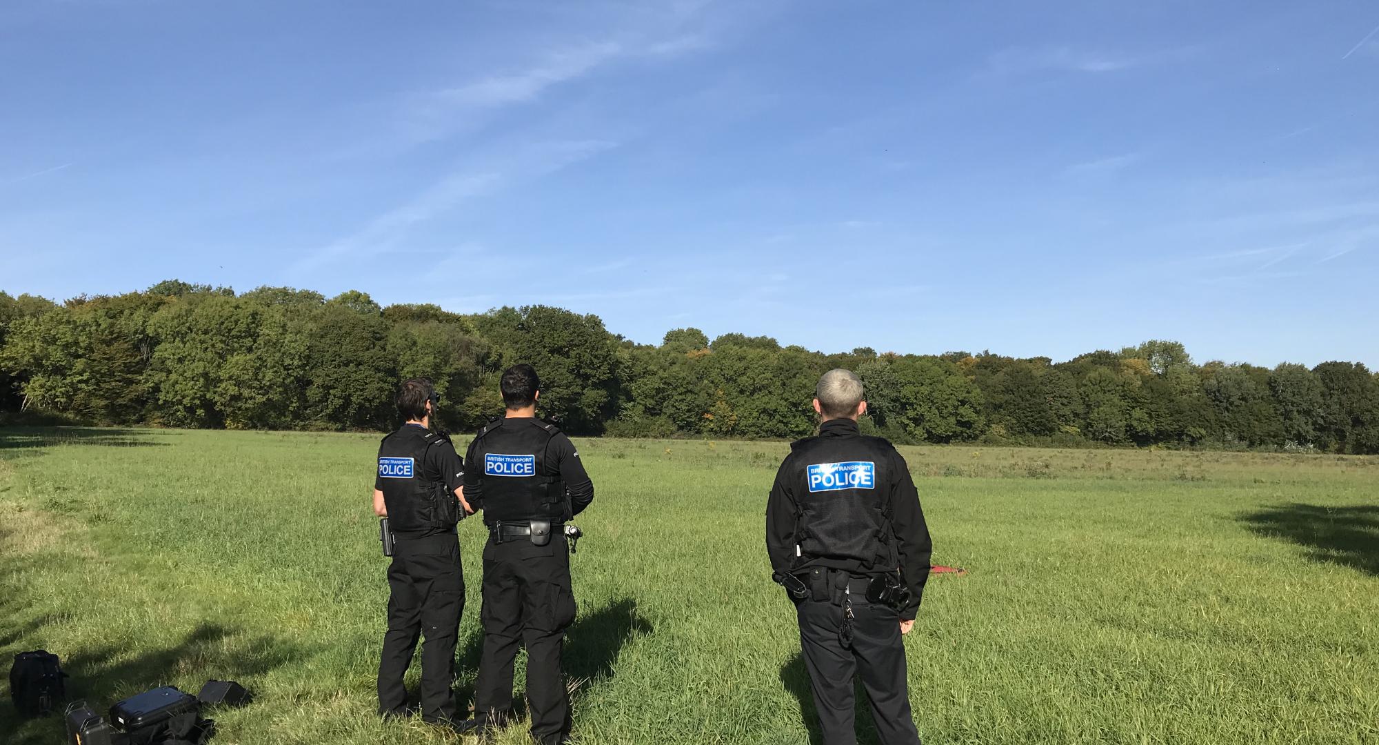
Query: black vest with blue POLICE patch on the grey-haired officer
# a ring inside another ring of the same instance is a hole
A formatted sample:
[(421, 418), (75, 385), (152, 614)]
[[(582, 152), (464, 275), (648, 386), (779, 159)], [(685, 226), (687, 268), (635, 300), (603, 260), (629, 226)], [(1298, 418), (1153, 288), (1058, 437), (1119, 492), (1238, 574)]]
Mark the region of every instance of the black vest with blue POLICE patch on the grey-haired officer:
[(809, 437), (793, 446), (797, 563), (808, 559), (895, 567), (887, 512), (889, 443), (878, 437)]

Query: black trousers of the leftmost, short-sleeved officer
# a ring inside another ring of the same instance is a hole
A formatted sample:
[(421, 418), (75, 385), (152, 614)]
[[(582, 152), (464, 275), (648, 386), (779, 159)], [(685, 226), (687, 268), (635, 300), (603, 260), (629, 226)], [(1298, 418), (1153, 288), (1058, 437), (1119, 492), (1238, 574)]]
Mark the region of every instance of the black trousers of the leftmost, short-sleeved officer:
[(378, 711), (407, 706), (403, 676), (412, 664), (416, 639), (422, 646), (422, 717), (455, 717), (455, 642), (465, 610), (465, 574), (459, 539), (454, 533), (426, 538), (399, 538), (387, 567), (387, 633), (378, 664)]

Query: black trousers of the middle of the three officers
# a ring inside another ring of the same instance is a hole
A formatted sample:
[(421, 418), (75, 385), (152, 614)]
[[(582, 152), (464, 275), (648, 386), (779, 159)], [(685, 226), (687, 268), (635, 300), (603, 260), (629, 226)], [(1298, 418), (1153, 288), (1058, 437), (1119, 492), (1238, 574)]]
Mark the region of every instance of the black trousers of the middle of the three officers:
[(527, 647), (531, 735), (543, 745), (570, 735), (570, 694), (560, 665), (565, 629), (575, 619), (570, 553), (563, 535), (545, 546), (528, 538), (484, 546), (484, 654), (474, 711), (505, 719), (513, 708), (513, 665)]

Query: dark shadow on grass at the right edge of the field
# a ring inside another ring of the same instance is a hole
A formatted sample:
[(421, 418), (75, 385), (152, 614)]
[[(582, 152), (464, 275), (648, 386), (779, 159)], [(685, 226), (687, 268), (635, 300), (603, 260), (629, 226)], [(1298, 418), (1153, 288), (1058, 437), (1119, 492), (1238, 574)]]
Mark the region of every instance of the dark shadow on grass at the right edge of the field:
[(1294, 502), (1240, 517), (1249, 530), (1307, 548), (1307, 559), (1379, 575), (1379, 505), (1318, 506)]

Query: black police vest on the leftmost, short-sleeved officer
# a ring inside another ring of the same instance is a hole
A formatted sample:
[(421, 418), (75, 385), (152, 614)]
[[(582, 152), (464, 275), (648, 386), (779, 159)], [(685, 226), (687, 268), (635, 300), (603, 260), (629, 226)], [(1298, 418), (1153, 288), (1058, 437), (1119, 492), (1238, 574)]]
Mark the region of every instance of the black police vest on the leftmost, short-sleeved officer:
[(387, 522), (397, 533), (450, 530), (459, 522), (459, 502), (447, 494), (441, 473), (426, 465), (426, 451), (450, 443), (445, 435), (416, 425), (383, 437), (378, 475), (383, 480)]

